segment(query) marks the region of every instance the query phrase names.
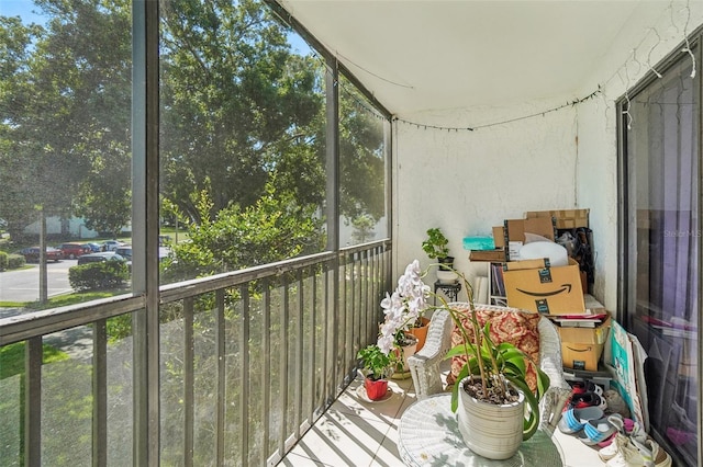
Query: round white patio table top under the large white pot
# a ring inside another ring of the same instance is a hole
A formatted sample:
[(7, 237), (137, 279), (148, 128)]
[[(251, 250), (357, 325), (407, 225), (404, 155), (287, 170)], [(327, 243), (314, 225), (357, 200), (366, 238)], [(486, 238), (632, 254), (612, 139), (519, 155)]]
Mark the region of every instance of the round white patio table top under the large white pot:
[(537, 431), (513, 457), (492, 460), (473, 454), (459, 434), (451, 395), (429, 396), (410, 406), (400, 419), (398, 452), (408, 466), (561, 466), (551, 437)]

